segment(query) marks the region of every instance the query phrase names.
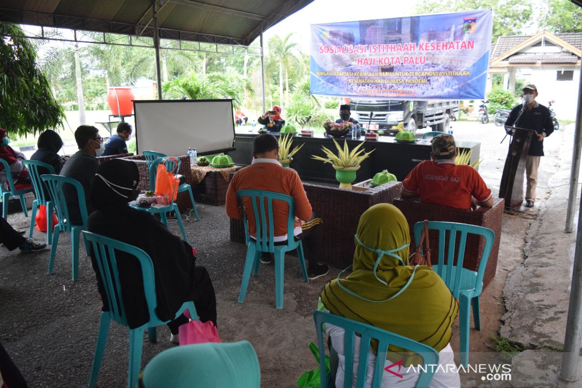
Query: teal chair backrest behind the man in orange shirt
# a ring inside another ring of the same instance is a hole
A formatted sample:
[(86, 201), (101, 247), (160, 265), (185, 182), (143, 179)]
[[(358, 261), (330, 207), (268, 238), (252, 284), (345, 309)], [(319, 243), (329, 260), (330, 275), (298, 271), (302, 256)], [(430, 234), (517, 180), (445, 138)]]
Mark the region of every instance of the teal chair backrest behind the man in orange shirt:
[(253, 215), (255, 225), (257, 226), (257, 250), (261, 252), (274, 252), (274, 222), (273, 222), (273, 200), (285, 201), (289, 206), (287, 218), (287, 243), (293, 241), (293, 229), (295, 226), (295, 202), (293, 197), (286, 194), (274, 193), (273, 191), (263, 190), (238, 190), (236, 197), (239, 200), (240, 208), (243, 213), (244, 239), (249, 245), (249, 225), (247, 224), (247, 215), (244, 211), (243, 197), (249, 197), (253, 205)]

